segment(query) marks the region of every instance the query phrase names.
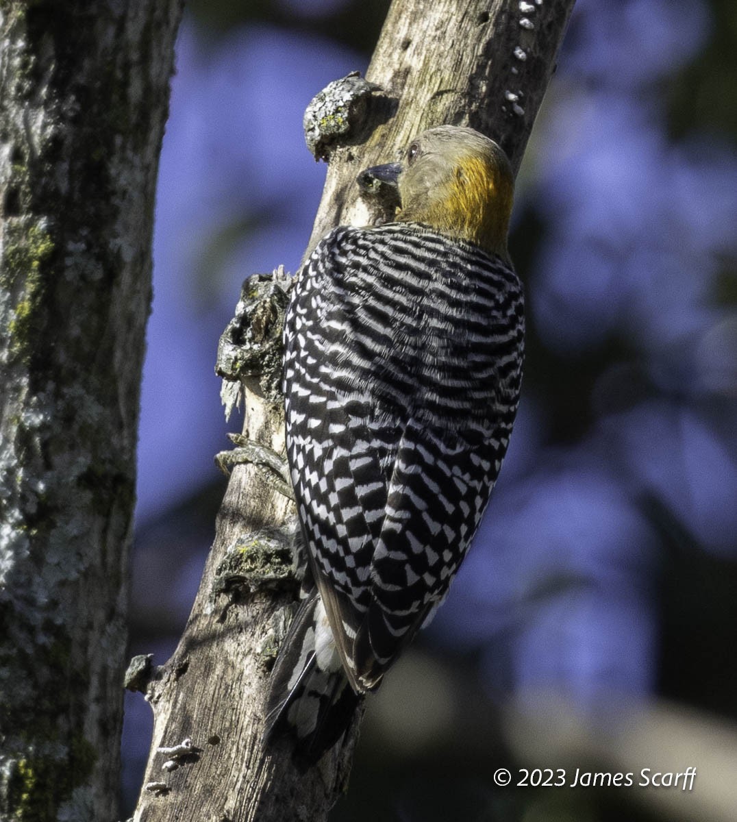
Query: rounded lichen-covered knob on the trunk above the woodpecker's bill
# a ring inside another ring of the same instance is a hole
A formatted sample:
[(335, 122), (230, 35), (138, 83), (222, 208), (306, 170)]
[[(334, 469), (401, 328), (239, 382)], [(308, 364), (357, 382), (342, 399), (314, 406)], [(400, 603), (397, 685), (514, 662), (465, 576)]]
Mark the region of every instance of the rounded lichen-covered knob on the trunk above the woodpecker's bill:
[(364, 80), (359, 72), (351, 72), (326, 85), (312, 98), (303, 124), (307, 148), (315, 159), (329, 161), (337, 145), (355, 136), (366, 122), (371, 94), (380, 90), (379, 85)]

